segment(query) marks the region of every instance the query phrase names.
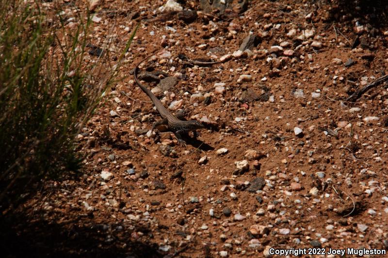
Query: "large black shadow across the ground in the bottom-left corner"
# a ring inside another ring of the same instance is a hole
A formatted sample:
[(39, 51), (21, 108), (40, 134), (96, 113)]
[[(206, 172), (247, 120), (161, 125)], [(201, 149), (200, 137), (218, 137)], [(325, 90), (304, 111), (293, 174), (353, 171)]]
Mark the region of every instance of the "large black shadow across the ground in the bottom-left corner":
[[(104, 225), (78, 226), (9, 214), (0, 218), (0, 248), (4, 258), (159, 258), (158, 246), (131, 242), (131, 231), (109, 232)], [(115, 225), (116, 226), (116, 225)], [(104, 230), (105, 227), (105, 230)]]

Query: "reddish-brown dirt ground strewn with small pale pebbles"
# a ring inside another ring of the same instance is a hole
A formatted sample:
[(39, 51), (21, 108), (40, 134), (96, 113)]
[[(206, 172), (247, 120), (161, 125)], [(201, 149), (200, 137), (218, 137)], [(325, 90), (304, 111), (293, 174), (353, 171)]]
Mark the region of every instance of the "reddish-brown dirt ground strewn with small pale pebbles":
[[(198, 11), (192, 23), (160, 13), (165, 1), (97, 2), (102, 19), (90, 43), (103, 47), (107, 35), (116, 36), (113, 62), (141, 20), (119, 71), (128, 77), (78, 137), (83, 175), (45, 183), (16, 211), (7, 256), (269, 257), (270, 247), (322, 247), (325, 255), (303, 257), (337, 257), (329, 248), (388, 249), (387, 84), (346, 101), (384, 75), (387, 7), (354, 2), (252, 0), (242, 14), (220, 15), (181, 1)], [(85, 3), (64, 7), (70, 18)], [(206, 67), (178, 57), (218, 61), (249, 32), (259, 40), (251, 56)], [(207, 121), (186, 147), (172, 133), (158, 140), (137, 131), (159, 119), (130, 75), (153, 51), (141, 73), (178, 77), (159, 93), (164, 105), (183, 99), (186, 118)], [(87, 55), (85, 65), (96, 60)], [(239, 84), (241, 75), (252, 77)], [(215, 83), (225, 83), (223, 94)], [(195, 103), (194, 93), (208, 98)], [(296, 136), (295, 127), (303, 133)], [(217, 154), (221, 148), (227, 152)], [(249, 168), (237, 169), (242, 160)], [(112, 174), (103, 180), (102, 171)]]

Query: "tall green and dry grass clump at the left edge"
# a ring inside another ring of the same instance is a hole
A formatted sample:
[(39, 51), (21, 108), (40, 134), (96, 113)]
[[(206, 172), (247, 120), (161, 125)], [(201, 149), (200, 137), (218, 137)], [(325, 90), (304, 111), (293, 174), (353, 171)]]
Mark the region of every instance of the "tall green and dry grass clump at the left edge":
[(41, 3), (0, 0), (0, 210), (36, 182), (80, 167), (75, 138), (118, 67), (103, 67), (107, 51), (85, 65), (91, 15), (69, 29), (60, 9)]

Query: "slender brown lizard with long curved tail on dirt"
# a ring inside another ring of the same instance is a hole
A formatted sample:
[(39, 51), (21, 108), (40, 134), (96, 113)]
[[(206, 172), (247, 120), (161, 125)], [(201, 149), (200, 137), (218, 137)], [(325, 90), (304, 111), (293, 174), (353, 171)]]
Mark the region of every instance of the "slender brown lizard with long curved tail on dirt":
[(142, 91), (144, 91), (148, 95), (148, 97), (151, 99), (152, 103), (155, 105), (156, 109), (158, 109), (158, 112), (162, 117), (162, 120), (156, 121), (152, 124), (151, 131), (153, 131), (159, 125), (167, 125), (168, 128), (177, 137), (178, 143), (180, 145), (185, 146), (186, 143), (182, 139), (182, 134), (185, 134), (189, 131), (193, 131), (194, 135), (196, 135), (195, 130), (204, 128), (205, 126), (201, 122), (196, 121), (196, 120), (183, 121), (183, 120), (178, 119), (170, 111), (168, 111), (167, 108), (165, 108), (163, 106), (162, 102), (155, 96), (154, 93), (152, 93), (146, 86), (141, 84), (141, 82), (137, 78), (137, 71), (139, 69), (140, 64), (142, 64), (144, 61), (146, 61), (152, 55), (153, 54), (147, 56), (145, 59), (140, 61), (140, 63), (138, 63), (135, 66), (135, 70), (133, 71), (133, 77), (135, 78), (137, 85), (140, 87), (140, 89), (142, 89)]

